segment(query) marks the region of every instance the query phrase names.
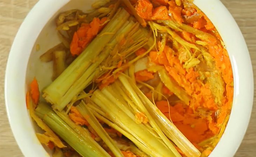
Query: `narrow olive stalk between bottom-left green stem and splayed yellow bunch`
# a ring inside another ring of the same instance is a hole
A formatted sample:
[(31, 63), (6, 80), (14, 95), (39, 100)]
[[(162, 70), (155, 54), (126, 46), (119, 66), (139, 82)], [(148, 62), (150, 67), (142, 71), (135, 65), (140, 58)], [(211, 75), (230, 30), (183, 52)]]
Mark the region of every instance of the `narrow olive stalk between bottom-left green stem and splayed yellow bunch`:
[(105, 142), (108, 148), (113, 152), (116, 157), (123, 157), (121, 150), (114, 143), (113, 139), (108, 135), (108, 133), (101, 126), (100, 122), (94, 117), (94, 115), (89, 111), (86, 104), (81, 101), (81, 103), (76, 106), (78, 111), (81, 113), (83, 118), (85, 118), (89, 125), (95, 130), (95, 132), (100, 136), (100, 138)]

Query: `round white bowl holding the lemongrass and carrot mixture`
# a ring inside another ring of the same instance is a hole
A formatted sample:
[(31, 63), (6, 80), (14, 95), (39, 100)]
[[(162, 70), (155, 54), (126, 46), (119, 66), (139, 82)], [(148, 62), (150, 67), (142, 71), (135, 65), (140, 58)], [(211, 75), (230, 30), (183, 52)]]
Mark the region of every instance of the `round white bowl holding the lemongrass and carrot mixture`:
[[(25, 95), (33, 77), (40, 90), (50, 83), (51, 63), (42, 63), (39, 56), (58, 44), (55, 17), (68, 9), (86, 11), (94, 0), (41, 0), (22, 23), (11, 48), (5, 76), (6, 109), (14, 137), (26, 157), (50, 156), (35, 136), (26, 109)], [(231, 60), (234, 74), (234, 101), (230, 119), (220, 142), (209, 157), (232, 157), (246, 132), (253, 100), (252, 66), (247, 46), (240, 29), (227, 8), (219, 0), (194, 0), (219, 31)], [(35, 51), (35, 45), (40, 51)]]

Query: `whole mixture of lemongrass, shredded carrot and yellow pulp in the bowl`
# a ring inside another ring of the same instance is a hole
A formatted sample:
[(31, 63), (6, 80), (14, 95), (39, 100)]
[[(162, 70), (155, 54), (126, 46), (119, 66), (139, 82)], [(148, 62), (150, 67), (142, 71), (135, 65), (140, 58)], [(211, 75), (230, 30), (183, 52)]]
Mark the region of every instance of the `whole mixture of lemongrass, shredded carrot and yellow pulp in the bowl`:
[[(233, 102), (216, 28), (190, 0), (101, 0), (56, 18), (53, 82), (26, 103), (53, 157), (207, 157)], [(44, 98), (39, 101), (40, 94)]]

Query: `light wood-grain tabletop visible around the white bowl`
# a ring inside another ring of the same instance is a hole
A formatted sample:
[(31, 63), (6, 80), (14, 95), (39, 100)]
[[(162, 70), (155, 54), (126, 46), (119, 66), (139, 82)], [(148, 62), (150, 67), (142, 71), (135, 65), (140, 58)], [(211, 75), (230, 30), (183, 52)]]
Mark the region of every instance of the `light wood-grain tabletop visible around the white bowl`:
[[(23, 157), (6, 116), (4, 73), (10, 47), (20, 24), (38, 0), (0, 0), (0, 157)], [(207, 0), (206, 0), (207, 1)], [(249, 48), (256, 75), (256, 0), (221, 0), (238, 23)], [(227, 24), (228, 27), (228, 24)], [(256, 86), (256, 82), (254, 81)], [(254, 88), (255, 88), (254, 86)], [(256, 88), (255, 88), (256, 89)], [(256, 95), (256, 94), (255, 94)], [(254, 95), (254, 99), (255, 99)], [(246, 104), (244, 104), (246, 105)], [(230, 139), (232, 141), (232, 139)], [(256, 156), (256, 99), (250, 124), (235, 157)], [(221, 156), (220, 156), (221, 157)]]

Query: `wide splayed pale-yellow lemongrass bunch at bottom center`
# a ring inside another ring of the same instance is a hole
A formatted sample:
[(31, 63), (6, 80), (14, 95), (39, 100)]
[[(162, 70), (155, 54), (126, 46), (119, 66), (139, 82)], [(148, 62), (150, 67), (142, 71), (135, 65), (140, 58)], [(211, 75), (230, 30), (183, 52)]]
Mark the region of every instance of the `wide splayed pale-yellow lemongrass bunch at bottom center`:
[[(119, 79), (120, 77), (121, 76), (119, 76)], [(125, 80), (122, 81), (126, 82)], [(105, 112), (105, 118), (122, 128), (122, 130), (117, 128), (120, 133), (127, 136), (123, 131), (128, 132), (130, 134), (128, 138), (135, 142), (141, 150), (144, 150), (144, 148), (137, 144), (137, 141), (134, 141), (133, 138), (130, 138), (131, 135), (150, 149), (150, 152), (144, 151), (149, 156), (179, 157), (180, 154), (163, 134), (159, 126), (157, 126), (139, 97), (135, 95), (135, 92), (129, 85), (126, 87), (127, 82), (124, 82), (115, 81), (113, 85), (103, 88), (102, 91), (96, 90), (92, 96), (93, 102)], [(128, 95), (126, 94), (127, 92), (129, 93)], [(147, 117), (150, 125), (148, 123), (137, 124), (136, 113), (138, 112), (143, 113), (143, 115)], [(151, 142), (146, 142), (146, 139), (150, 139)]]

